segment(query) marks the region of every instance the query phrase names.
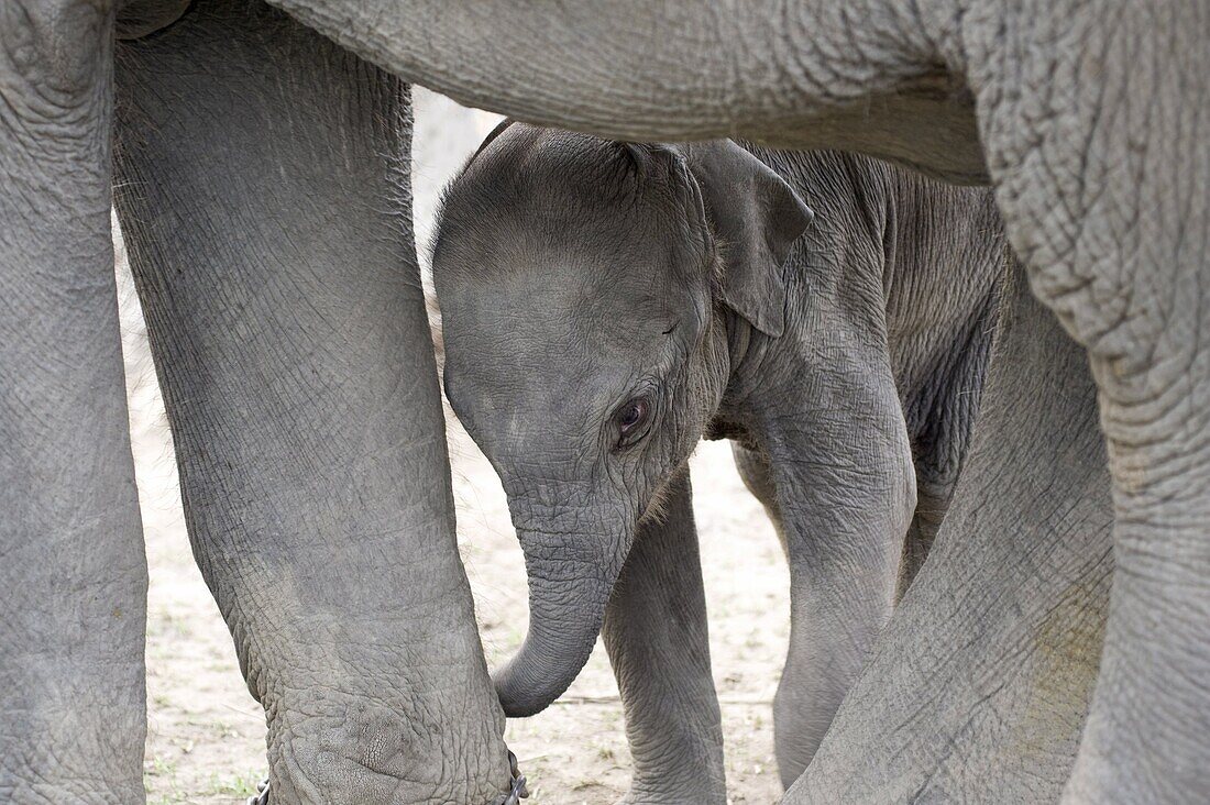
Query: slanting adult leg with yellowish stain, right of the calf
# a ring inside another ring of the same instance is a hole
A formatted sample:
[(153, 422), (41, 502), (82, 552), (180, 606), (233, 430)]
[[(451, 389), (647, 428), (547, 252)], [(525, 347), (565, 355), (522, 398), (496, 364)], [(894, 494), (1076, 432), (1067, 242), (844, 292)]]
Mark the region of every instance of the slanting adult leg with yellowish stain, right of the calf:
[(929, 559), (786, 803), (1062, 790), (1096, 679), (1113, 512), (1083, 351), (1020, 275), (1006, 299)]

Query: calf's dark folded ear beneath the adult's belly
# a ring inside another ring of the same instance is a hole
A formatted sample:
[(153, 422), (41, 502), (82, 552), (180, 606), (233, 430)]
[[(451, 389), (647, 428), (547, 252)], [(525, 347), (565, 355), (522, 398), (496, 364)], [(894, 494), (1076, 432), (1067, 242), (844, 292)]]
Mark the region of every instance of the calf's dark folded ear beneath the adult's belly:
[(730, 139), (678, 148), (721, 242), (724, 301), (761, 333), (785, 332), (783, 264), (814, 212), (772, 168)]

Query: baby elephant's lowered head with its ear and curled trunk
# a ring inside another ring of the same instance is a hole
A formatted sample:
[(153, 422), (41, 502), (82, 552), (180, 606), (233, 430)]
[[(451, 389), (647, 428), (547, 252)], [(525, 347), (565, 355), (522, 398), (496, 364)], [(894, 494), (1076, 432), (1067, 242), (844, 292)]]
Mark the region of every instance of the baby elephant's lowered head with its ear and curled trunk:
[(730, 140), (511, 123), (450, 185), (445, 392), (500, 473), (530, 579), (529, 633), (496, 674), (509, 715), (583, 667), (638, 524), (719, 404), (728, 315), (782, 334), (782, 263), (811, 217)]

